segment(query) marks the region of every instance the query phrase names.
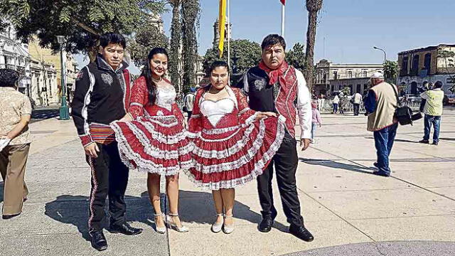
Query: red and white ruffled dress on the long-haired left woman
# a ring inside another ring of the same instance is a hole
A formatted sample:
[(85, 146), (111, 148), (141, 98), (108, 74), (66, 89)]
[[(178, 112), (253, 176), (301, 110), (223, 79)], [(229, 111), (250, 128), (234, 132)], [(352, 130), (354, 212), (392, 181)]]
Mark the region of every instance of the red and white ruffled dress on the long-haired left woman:
[(134, 121), (111, 124), (122, 161), (129, 168), (169, 176), (193, 166), (193, 146), (186, 138), (183, 114), (175, 99), (173, 85), (161, 80), (151, 105), (145, 78), (134, 82), (128, 110)]

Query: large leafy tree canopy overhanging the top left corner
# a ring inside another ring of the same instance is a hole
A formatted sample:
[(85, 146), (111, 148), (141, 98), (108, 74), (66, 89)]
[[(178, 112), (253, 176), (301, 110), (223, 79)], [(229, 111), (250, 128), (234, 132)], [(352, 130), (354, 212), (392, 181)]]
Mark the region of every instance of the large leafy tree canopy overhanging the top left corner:
[(58, 51), (56, 36), (65, 36), (65, 50), (95, 60), (100, 34), (133, 35), (150, 16), (164, 11), (162, 0), (1, 0), (0, 16), (11, 21), (18, 38), (37, 36), (42, 47)]

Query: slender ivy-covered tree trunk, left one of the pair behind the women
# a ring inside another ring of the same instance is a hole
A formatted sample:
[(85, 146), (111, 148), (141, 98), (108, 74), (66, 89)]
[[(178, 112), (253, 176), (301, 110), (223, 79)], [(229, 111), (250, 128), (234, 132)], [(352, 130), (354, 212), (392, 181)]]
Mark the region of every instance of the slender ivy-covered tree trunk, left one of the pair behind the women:
[(178, 66), (181, 50), (181, 24), (180, 24), (180, 6), (182, 0), (169, 0), (172, 6), (171, 22), (171, 52), (169, 61), (169, 73), (171, 73), (171, 82), (177, 88), (181, 88), (180, 74)]

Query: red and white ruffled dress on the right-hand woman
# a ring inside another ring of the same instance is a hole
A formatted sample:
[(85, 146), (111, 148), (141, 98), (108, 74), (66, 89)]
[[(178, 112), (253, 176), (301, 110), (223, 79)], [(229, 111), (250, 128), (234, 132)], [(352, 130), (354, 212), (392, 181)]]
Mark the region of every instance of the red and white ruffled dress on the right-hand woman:
[(205, 100), (205, 90), (198, 90), (188, 124), (195, 166), (186, 174), (203, 189), (235, 188), (254, 180), (284, 137), (284, 117), (256, 121), (245, 95), (226, 88), (230, 97), (216, 102)]

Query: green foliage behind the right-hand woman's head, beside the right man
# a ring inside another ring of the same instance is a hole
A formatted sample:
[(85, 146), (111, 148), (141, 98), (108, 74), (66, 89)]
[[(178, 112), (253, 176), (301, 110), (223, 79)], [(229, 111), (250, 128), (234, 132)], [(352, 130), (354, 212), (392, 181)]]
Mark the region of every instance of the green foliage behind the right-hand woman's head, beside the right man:
[[(220, 59), (218, 47), (210, 48), (204, 55), (203, 60), (203, 70), (205, 70), (205, 74), (208, 73), (208, 68), (210, 64), (213, 63), (215, 60), (224, 60), (228, 61), (228, 47), (226, 47), (223, 51), (223, 58)], [(248, 68), (254, 67), (255, 65), (259, 64), (259, 60), (261, 60), (261, 46), (259, 43), (249, 41), (247, 39), (237, 39), (230, 41), (230, 48), (231, 48), (231, 61), (230, 65), (232, 67), (232, 57), (234, 53), (236, 53), (237, 57), (237, 73), (245, 73)]]

